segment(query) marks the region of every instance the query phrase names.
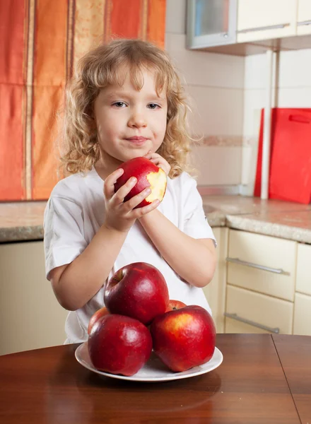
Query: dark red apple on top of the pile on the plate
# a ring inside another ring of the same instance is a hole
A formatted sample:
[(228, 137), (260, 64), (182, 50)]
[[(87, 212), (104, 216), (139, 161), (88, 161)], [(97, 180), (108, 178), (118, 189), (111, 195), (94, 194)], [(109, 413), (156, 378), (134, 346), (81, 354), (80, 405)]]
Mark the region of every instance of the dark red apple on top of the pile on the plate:
[(168, 307), (168, 285), (155, 266), (134, 262), (123, 266), (104, 290), (104, 302), (112, 314), (127, 315), (149, 324)]

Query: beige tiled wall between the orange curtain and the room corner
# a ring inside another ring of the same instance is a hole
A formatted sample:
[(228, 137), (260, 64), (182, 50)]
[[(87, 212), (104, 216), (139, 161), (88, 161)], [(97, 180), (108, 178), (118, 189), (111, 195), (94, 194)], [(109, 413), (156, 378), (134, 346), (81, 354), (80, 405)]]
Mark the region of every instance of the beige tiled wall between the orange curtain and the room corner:
[(242, 181), (245, 58), (186, 49), (186, 0), (167, 0), (165, 49), (184, 76), (192, 98), (192, 133), (199, 185)]

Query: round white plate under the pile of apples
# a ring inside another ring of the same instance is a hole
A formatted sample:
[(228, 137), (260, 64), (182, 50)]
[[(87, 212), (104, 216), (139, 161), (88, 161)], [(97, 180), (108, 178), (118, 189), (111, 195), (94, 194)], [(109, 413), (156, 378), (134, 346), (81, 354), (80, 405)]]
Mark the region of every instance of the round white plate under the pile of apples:
[(168, 367), (166, 367), (155, 353), (152, 352), (148, 362), (143, 365), (139, 372), (136, 372), (136, 374), (131, 377), (126, 377), (124, 375), (110, 374), (110, 372), (96, 370), (90, 362), (87, 341), (76, 348), (75, 356), (78, 363), (90, 371), (96, 372), (97, 374), (105, 377), (125, 379), (132, 382), (168, 382), (175, 379), (194, 377), (195, 375), (201, 375), (215, 370), (215, 368), (219, 367), (219, 365), (223, 362), (223, 354), (218, 348), (215, 348), (213, 356), (209, 362), (200, 365), (199, 367), (193, 367), (187, 371), (172, 372), (168, 370)]

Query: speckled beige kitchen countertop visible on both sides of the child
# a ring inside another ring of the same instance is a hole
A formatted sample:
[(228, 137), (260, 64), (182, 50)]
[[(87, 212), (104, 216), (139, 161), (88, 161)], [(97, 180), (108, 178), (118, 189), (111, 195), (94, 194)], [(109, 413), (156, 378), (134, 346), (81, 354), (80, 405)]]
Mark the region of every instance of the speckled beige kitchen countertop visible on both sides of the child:
[[(311, 204), (246, 196), (202, 196), (211, 227), (229, 227), (311, 244)], [(46, 201), (0, 203), (0, 242), (43, 239)]]

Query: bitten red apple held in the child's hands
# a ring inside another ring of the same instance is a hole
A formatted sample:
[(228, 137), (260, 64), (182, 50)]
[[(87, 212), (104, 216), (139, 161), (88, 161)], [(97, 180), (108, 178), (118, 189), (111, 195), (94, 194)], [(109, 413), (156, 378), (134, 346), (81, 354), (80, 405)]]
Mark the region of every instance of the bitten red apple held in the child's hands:
[(124, 185), (130, 177), (136, 177), (137, 182), (131, 189), (129, 194), (125, 196), (124, 201), (128, 201), (136, 194), (139, 194), (147, 187), (151, 188), (151, 194), (143, 199), (136, 208), (141, 208), (151, 204), (154, 200), (163, 200), (166, 191), (166, 174), (165, 172), (151, 162), (151, 160), (143, 157), (127, 160), (119, 166), (124, 170), (121, 177), (115, 182), (115, 192)]

